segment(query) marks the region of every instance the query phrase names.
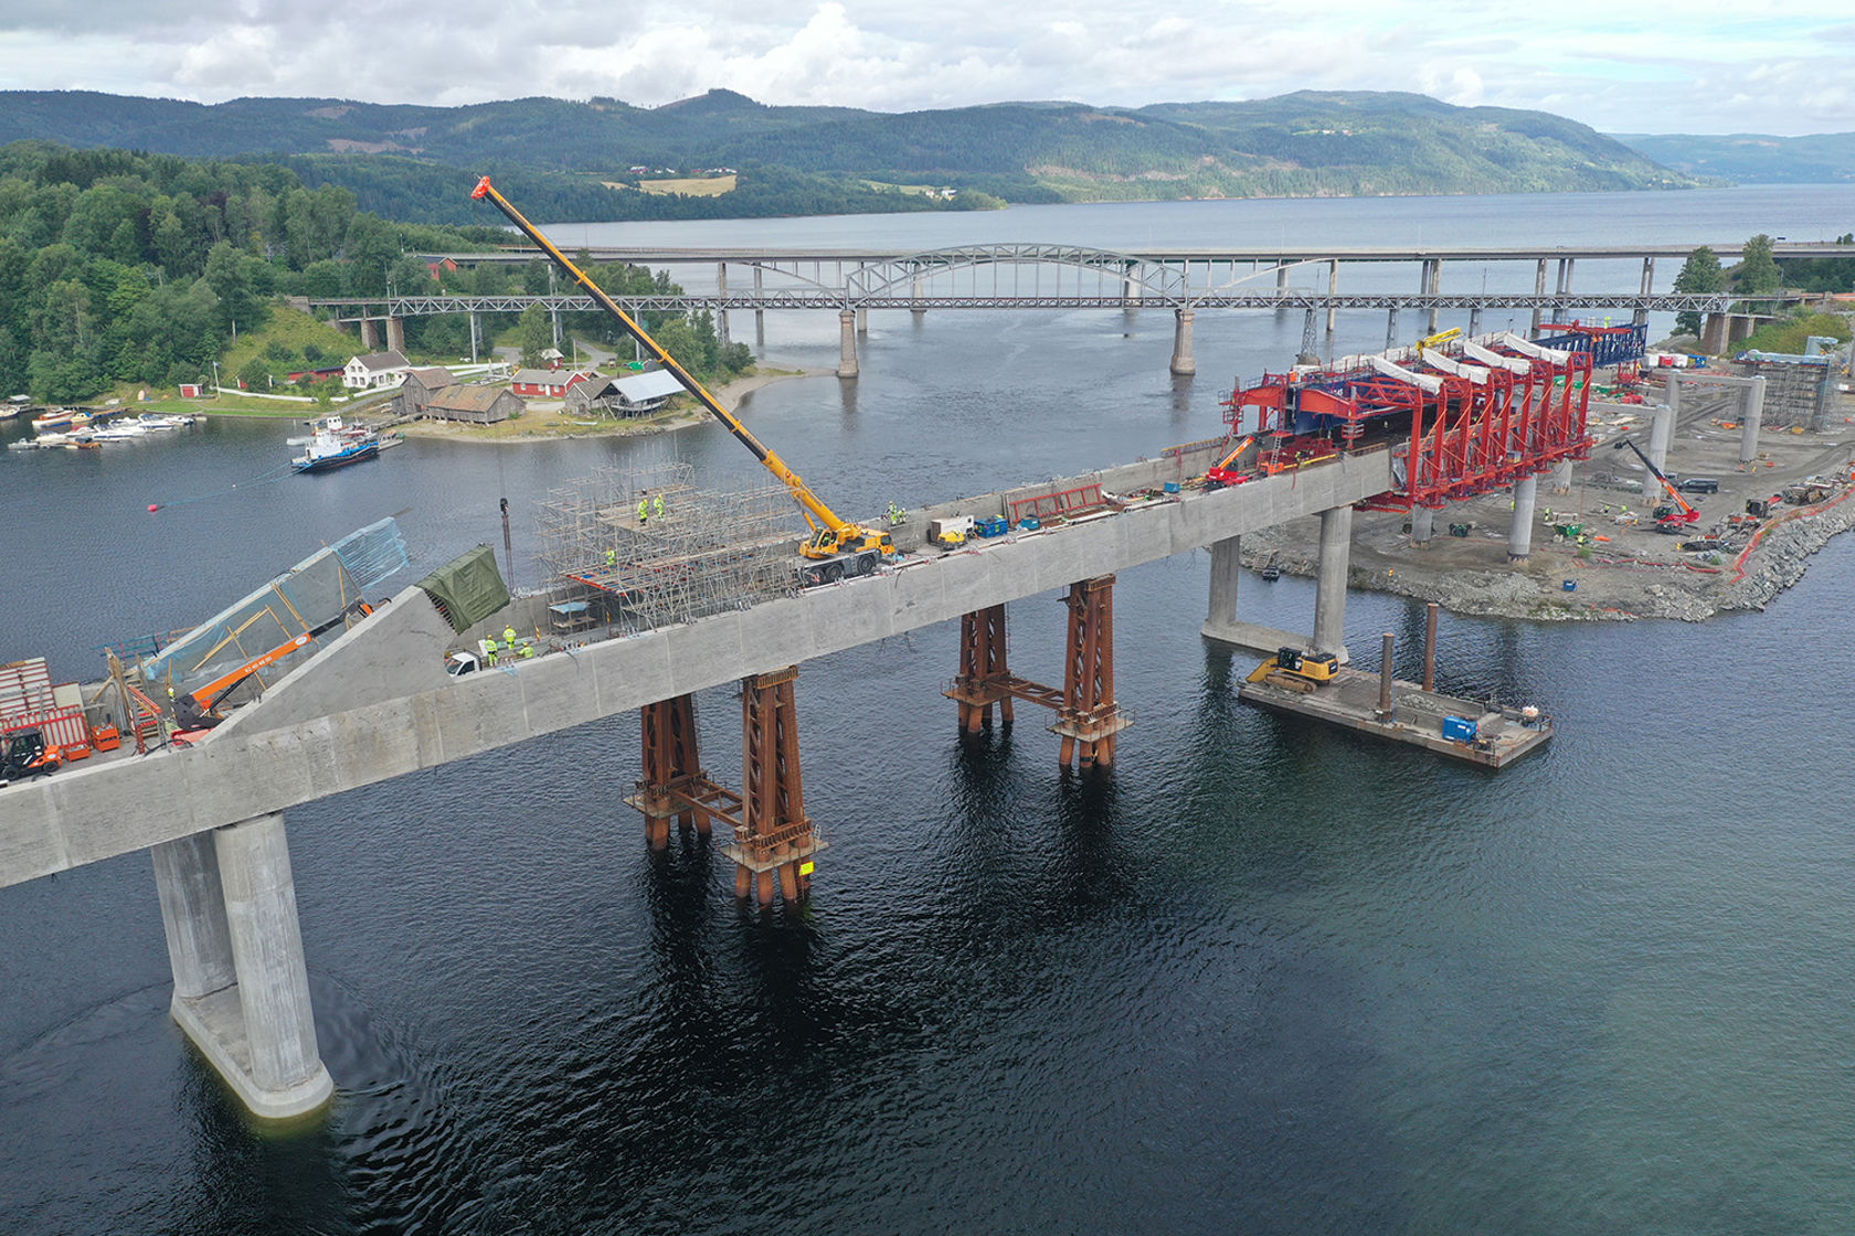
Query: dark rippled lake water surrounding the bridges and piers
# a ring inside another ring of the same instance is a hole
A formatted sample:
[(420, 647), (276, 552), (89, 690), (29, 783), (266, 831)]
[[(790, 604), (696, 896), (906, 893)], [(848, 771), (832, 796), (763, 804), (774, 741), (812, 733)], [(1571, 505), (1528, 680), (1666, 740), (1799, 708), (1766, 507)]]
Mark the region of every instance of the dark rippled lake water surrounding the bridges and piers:
[[(1855, 189), (1807, 187), (556, 239), (1137, 248), (1849, 228)], [(770, 315), (772, 363), (835, 363), (825, 317)], [(859, 382), (781, 382), (744, 419), (829, 502), (874, 513), (1211, 435), (1232, 374), (1280, 367), (1300, 335), (1298, 315), (1200, 313), (1200, 372), (1174, 380), (1171, 328), (1119, 311), (872, 315)], [(1382, 339), (1380, 315), (1343, 319), (1341, 347)], [(709, 426), (642, 445), (414, 441), (273, 480), (289, 432), (215, 423), (82, 458), (0, 452), (17, 550), (0, 662), (45, 654), (87, 676), (93, 645), (204, 617), (382, 515), (423, 571), (499, 541), (499, 497), (523, 515), (633, 452), (755, 480)], [(518, 582), (534, 584), (525, 539), (523, 515)], [(939, 691), (957, 626), (805, 663), (807, 804), (833, 849), (801, 912), (740, 910), (718, 845), (646, 851), (620, 801), (638, 776), (633, 717), (293, 810), (339, 1097), (291, 1138), (254, 1132), (167, 1019), (145, 856), (0, 889), (0, 1230), (1846, 1232), (1849, 539), (1759, 615), (1445, 615), (1445, 689), (1562, 721), (1499, 776), (1239, 708), (1254, 662), (1200, 641), (1208, 574), (1193, 554), (1120, 576), (1119, 695), (1139, 723), (1093, 776), (1057, 769), (1030, 708), (1009, 734), (955, 736)], [(1256, 621), (1306, 626), (1311, 604), (1308, 582), (1243, 584)], [(1057, 678), (1057, 595), (1009, 613), (1013, 667)], [(1406, 676), (1421, 623), (1414, 602), (1349, 600), (1354, 647), (1397, 632)], [(707, 765), (735, 780), (738, 704), (712, 691), (697, 708)]]

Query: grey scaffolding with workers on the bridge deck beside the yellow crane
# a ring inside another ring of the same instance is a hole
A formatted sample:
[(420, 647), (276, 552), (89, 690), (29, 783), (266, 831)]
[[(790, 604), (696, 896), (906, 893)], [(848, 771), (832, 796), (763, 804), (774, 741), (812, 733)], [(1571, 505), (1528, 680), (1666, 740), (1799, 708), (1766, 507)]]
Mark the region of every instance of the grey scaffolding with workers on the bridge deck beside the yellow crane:
[(549, 489), (536, 523), (551, 591), (601, 600), (627, 630), (746, 610), (800, 584), (785, 486), (699, 489), (688, 463), (614, 465)]

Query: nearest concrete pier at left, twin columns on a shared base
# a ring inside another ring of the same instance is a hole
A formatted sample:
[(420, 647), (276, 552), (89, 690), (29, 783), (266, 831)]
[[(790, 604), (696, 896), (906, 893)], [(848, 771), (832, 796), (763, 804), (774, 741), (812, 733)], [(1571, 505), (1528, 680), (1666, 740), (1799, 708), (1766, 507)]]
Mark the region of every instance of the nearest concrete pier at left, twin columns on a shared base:
[(315, 1041), (282, 813), (150, 852), (174, 1021), (254, 1116), (315, 1112), (334, 1078)]

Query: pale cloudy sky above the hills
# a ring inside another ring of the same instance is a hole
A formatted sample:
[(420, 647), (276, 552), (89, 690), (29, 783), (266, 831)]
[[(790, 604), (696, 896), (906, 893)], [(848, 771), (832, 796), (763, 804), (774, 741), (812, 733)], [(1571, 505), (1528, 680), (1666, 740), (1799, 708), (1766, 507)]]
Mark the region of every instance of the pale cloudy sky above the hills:
[[(1421, 91), (1608, 133), (1855, 130), (1849, 0), (0, 0), (0, 85), (877, 111)], [(1317, 17), (1315, 17), (1317, 15)]]

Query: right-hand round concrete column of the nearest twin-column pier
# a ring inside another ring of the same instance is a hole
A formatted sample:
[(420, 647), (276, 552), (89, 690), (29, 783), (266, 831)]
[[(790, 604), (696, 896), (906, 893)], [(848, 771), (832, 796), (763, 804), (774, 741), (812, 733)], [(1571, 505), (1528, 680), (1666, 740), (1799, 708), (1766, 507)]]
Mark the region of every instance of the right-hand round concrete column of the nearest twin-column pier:
[(260, 1116), (313, 1110), (334, 1093), (334, 1080), (315, 1045), (284, 817), (260, 815), (219, 828), (213, 849), (237, 965), (250, 1082), (262, 1095), (262, 1106), (254, 1103), (252, 1110)]

